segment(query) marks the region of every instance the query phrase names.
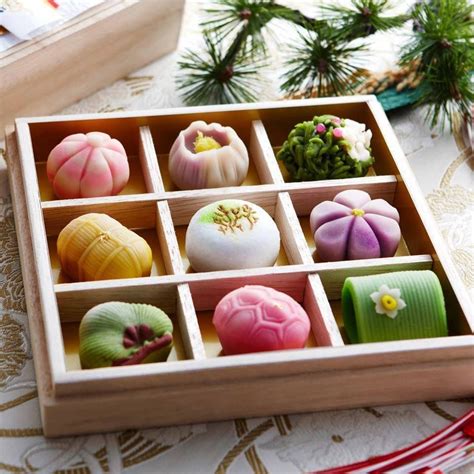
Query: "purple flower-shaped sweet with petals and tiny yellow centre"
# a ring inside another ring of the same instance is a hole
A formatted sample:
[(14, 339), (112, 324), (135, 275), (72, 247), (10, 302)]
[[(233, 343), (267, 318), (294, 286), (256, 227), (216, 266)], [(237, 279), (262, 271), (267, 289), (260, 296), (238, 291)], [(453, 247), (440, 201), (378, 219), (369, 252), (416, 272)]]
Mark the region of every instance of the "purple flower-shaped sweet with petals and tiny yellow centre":
[(319, 203), (310, 226), (323, 261), (393, 257), (400, 243), (400, 216), (383, 199), (351, 189)]

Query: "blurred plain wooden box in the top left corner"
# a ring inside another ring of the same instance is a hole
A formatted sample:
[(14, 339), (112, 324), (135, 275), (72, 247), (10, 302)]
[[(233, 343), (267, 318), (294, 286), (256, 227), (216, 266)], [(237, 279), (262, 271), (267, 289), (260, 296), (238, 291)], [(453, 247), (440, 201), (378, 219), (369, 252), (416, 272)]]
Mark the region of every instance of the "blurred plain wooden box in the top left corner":
[(169, 53), (183, 7), (184, 0), (107, 0), (1, 52), (0, 128), (57, 112)]

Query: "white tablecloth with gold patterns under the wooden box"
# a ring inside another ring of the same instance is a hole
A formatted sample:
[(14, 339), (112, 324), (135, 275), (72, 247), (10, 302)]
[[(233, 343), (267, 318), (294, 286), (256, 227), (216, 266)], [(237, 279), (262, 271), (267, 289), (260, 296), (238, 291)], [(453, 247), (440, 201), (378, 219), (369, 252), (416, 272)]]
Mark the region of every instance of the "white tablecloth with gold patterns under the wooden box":
[[(303, 6), (311, 3), (298, 2)], [(199, 36), (198, 14), (198, 4), (189, 2), (181, 47), (194, 44)], [(382, 57), (393, 50), (387, 38), (379, 38), (377, 44), (385, 48)], [(278, 54), (282, 53), (275, 52)], [(64, 113), (181, 105), (173, 80), (176, 59), (176, 54), (162, 58)], [(277, 98), (272, 84), (275, 76), (269, 74), (267, 99)], [(390, 120), (474, 300), (473, 159), (469, 142), (460, 133), (453, 137), (429, 130), (423, 125), (421, 111), (392, 114)], [(396, 450), (474, 407), (474, 399), (440, 401), (46, 440), (41, 431), (4, 168), (0, 159), (1, 472), (289, 474)]]

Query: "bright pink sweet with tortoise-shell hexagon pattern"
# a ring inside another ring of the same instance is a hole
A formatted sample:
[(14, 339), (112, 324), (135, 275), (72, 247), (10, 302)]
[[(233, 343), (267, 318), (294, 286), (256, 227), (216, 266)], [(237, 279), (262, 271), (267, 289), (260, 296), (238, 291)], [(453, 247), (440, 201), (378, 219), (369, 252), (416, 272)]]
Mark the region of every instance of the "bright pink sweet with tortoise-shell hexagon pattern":
[(310, 331), (301, 305), (281, 291), (259, 285), (224, 296), (212, 322), (226, 355), (299, 349)]

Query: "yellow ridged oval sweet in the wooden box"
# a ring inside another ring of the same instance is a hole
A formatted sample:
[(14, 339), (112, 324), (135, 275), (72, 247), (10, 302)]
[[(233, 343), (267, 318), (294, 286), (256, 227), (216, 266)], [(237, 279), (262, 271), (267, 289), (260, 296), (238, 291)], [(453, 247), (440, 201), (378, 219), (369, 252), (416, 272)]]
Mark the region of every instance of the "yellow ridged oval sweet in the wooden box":
[(58, 236), (61, 268), (74, 281), (149, 276), (151, 248), (145, 239), (107, 214), (84, 214)]

